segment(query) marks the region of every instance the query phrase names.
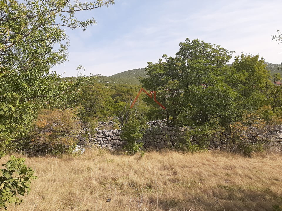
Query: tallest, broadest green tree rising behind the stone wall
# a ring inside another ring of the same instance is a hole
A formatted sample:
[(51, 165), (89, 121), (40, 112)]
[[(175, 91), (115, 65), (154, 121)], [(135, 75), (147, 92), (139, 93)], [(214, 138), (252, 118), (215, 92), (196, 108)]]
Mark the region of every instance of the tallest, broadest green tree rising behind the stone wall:
[[(176, 57), (163, 56), (158, 63), (148, 63), (148, 77), (140, 79), (143, 87), (157, 91), (157, 100), (166, 107), (172, 125), (190, 120), (199, 124), (210, 118), (228, 122), (234, 117), (235, 93), (224, 82), (226, 62), (232, 53), (219, 45), (186, 39)], [(158, 105), (156, 105), (158, 106)]]

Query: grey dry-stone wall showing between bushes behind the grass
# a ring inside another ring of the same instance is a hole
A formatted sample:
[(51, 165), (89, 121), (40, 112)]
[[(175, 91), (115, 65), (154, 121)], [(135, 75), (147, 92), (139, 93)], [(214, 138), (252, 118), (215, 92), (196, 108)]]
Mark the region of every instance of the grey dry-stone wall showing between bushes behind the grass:
[[(110, 123), (114, 125), (114, 122)], [(166, 120), (156, 120), (147, 123), (150, 127), (144, 132), (142, 140), (140, 142), (144, 143), (145, 149), (163, 149), (165, 147), (173, 147), (177, 143), (184, 140), (184, 132), (186, 130), (193, 130), (191, 127), (167, 127)], [(99, 125), (101, 125), (99, 123)], [(100, 126), (101, 128), (102, 126)], [(95, 129), (95, 134), (93, 135), (89, 131), (90, 135), (89, 142), (90, 145), (100, 148), (108, 148), (110, 151), (114, 152), (116, 150), (121, 150), (122, 147), (126, 145), (126, 141), (120, 138), (121, 130), (100, 130)], [(245, 132), (243, 134), (246, 140), (251, 141), (256, 138), (250, 132)], [(199, 144), (197, 136), (191, 136), (190, 142), (193, 144)], [(261, 135), (262, 139), (273, 140), (282, 144), (282, 125), (278, 125), (272, 128), (271, 131), (266, 131), (265, 134)], [(228, 147), (228, 143), (231, 142), (230, 132), (225, 131), (224, 133), (219, 133), (209, 140), (209, 149), (224, 149)]]

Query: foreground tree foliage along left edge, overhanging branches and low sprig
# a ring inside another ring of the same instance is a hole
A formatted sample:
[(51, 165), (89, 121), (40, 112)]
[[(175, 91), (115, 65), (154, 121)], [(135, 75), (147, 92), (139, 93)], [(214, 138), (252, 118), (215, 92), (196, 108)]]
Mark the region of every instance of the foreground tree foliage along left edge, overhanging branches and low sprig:
[[(95, 20), (78, 21), (77, 12), (113, 3), (114, 0), (85, 3), (68, 0), (1, 1), (1, 155), (12, 139), (26, 133), (38, 106), (54, 98), (59, 99), (59, 102), (64, 101), (66, 98), (62, 95), (72, 93), (81, 84), (80, 80), (59, 82), (56, 72), (50, 71), (51, 67), (63, 63), (67, 57), (68, 37), (64, 28), (85, 30), (87, 26), (95, 24)], [(28, 192), (26, 181), (32, 179), (32, 172), (22, 172), (24, 169), (21, 159), (11, 158), (4, 165), (1, 170), (1, 207), (9, 202), (19, 202), (16, 197)], [(19, 175), (18, 181), (13, 180), (14, 173)]]

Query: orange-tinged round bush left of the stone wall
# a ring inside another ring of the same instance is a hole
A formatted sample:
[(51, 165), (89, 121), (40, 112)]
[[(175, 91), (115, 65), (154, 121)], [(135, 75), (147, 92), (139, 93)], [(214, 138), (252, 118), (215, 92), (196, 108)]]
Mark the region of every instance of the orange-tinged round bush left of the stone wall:
[(34, 122), (34, 129), (25, 138), (29, 142), (28, 151), (35, 154), (70, 153), (78, 142), (75, 132), (80, 129), (75, 110), (42, 110)]

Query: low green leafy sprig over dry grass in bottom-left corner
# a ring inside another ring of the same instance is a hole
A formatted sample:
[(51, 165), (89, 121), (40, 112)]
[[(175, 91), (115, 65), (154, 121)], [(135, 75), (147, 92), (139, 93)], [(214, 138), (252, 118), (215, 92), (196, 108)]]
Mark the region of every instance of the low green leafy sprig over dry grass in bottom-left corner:
[(20, 204), (23, 196), (30, 191), (34, 171), (24, 165), (24, 159), (11, 156), (0, 170), (0, 208), (7, 208), (8, 203)]

